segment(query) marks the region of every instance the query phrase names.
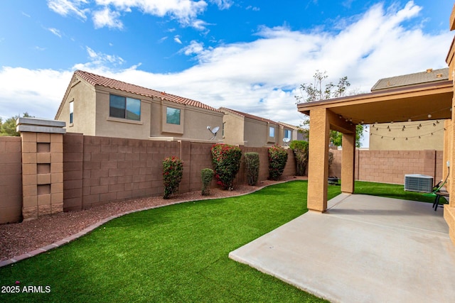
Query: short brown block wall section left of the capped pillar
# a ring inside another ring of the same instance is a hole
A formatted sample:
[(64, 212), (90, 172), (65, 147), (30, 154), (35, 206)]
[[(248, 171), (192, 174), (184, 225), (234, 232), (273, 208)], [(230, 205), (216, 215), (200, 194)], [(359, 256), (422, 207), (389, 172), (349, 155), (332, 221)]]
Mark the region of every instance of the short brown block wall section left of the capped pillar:
[(21, 137), (0, 137), (0, 223), (22, 219)]

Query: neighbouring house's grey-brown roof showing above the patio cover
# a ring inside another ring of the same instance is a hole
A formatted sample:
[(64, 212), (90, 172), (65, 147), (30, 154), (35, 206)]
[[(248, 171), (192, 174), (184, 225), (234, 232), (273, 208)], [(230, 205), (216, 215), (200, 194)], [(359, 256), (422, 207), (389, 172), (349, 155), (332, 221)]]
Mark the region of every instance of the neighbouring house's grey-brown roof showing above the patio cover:
[(397, 87), (407, 87), (415, 84), (426, 84), (429, 82), (439, 82), (449, 79), (449, 68), (439, 70), (428, 69), (425, 72), (402, 75), (390, 78), (379, 79), (371, 88), (371, 92), (382, 89), (392, 89)]

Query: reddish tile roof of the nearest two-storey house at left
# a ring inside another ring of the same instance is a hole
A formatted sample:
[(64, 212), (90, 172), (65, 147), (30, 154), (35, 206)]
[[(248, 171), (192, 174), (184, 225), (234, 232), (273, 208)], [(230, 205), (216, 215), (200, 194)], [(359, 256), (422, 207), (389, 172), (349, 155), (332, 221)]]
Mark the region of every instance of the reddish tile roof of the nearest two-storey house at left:
[(109, 87), (112, 89), (121, 90), (123, 92), (139, 94), (144, 97), (155, 97), (155, 98), (159, 98), (161, 100), (176, 102), (179, 104), (191, 105), (191, 106), (199, 107), (200, 109), (208, 109), (210, 111), (220, 112), (218, 109), (215, 109), (212, 106), (208, 106), (207, 104), (203, 104), (200, 101), (183, 98), (183, 97), (178, 97), (173, 94), (168, 94), (166, 92), (159, 92), (154, 89), (148, 89), (146, 87), (140, 87), (139, 85), (129, 84), (127, 82), (122, 82), (122, 81), (119, 81), (116, 79), (111, 79), (108, 77), (95, 75), (95, 74), (92, 74), (91, 72), (85, 72), (83, 70), (76, 70), (74, 74), (77, 75), (78, 77), (84, 79), (85, 81), (89, 82), (93, 86), (99, 85), (102, 87)]

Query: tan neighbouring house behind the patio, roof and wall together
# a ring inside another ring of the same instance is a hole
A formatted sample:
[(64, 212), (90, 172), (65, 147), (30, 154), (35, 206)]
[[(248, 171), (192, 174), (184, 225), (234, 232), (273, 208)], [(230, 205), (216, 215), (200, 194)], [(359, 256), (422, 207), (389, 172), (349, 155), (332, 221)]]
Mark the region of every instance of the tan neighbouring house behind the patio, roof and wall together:
[[(409, 75), (378, 80), (371, 92), (412, 88), (419, 84), (435, 84), (449, 79), (449, 68), (428, 69)], [(435, 99), (434, 102), (438, 100)], [(431, 115), (431, 114), (430, 114)], [(443, 150), (444, 120), (375, 123), (370, 125), (370, 150)]]

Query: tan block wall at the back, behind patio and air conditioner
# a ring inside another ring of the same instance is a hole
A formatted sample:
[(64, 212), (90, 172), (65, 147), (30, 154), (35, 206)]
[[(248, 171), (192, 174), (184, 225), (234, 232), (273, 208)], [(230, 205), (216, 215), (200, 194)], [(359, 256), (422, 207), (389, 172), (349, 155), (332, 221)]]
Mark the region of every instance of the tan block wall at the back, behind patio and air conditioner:
[[(331, 150), (333, 164), (329, 175), (341, 177), (341, 150)], [(435, 183), (444, 180), (441, 150), (356, 150), (355, 180), (404, 184), (405, 175), (422, 174)]]

